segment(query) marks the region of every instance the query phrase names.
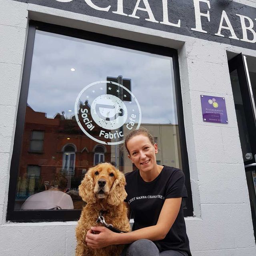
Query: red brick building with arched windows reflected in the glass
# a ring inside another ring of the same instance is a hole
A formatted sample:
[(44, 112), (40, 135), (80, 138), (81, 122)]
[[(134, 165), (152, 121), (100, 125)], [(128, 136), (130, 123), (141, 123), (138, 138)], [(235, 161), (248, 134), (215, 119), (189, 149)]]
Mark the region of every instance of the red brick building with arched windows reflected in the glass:
[[(95, 133), (99, 134), (97, 128)], [(68, 177), (69, 189), (77, 190), (88, 168), (102, 160), (110, 162), (110, 153), (110, 146), (99, 144), (82, 132), (75, 116), (56, 114), (47, 118), (46, 113), (27, 106), (16, 195), (26, 198), (44, 190), (58, 172)]]

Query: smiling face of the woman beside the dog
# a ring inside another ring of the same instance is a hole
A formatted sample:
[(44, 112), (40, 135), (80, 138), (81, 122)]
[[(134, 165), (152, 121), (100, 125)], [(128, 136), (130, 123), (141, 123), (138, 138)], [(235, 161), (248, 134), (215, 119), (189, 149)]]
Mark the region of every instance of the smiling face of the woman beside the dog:
[(147, 136), (134, 136), (128, 140), (126, 146), (130, 153), (128, 157), (140, 171), (147, 172), (157, 166), (158, 147), (157, 144), (152, 145)]

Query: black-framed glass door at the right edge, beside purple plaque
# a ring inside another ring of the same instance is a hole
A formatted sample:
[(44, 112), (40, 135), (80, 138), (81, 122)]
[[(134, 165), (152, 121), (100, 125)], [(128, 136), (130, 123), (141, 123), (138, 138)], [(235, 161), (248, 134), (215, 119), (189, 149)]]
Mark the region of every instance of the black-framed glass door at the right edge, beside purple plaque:
[(256, 238), (256, 72), (239, 54), (228, 62)]

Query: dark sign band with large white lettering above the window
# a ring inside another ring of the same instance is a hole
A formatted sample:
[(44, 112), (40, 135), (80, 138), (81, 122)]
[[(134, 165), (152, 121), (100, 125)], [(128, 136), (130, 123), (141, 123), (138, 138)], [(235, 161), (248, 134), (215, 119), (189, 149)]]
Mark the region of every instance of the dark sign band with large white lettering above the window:
[[(220, 0), (19, 0), (256, 50), (256, 8)], [(96, 21), (97, 22), (97, 21)]]

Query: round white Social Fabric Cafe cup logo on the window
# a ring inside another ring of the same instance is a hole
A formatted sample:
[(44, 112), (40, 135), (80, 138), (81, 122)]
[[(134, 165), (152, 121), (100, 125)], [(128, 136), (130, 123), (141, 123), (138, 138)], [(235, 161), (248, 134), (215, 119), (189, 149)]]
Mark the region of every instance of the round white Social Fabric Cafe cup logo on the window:
[(141, 123), (141, 109), (134, 94), (110, 81), (83, 88), (74, 112), (79, 127), (89, 138), (108, 145), (123, 143), (124, 130), (137, 130)]

